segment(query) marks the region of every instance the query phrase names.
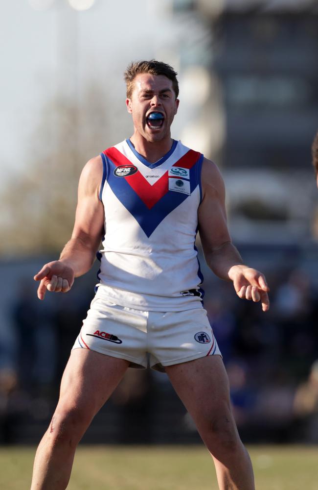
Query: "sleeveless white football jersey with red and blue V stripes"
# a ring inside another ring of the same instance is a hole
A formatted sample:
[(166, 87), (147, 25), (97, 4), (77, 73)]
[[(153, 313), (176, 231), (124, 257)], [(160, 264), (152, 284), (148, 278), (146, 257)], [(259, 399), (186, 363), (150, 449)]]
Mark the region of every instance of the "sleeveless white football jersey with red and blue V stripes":
[(174, 141), (151, 164), (126, 140), (101, 156), (105, 236), (96, 294), (136, 310), (201, 307), (195, 237), (203, 155)]

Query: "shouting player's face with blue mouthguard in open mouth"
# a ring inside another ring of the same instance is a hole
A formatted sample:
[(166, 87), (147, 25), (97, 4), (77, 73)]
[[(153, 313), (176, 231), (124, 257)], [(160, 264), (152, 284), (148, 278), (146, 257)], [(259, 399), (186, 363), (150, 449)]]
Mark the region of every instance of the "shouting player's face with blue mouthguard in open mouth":
[[(136, 75), (132, 96), (126, 99), (126, 104), (136, 130), (147, 141), (170, 137), (170, 126), (177, 114), (179, 100), (169, 78), (150, 73)], [(149, 119), (151, 113), (160, 113), (163, 119)]]

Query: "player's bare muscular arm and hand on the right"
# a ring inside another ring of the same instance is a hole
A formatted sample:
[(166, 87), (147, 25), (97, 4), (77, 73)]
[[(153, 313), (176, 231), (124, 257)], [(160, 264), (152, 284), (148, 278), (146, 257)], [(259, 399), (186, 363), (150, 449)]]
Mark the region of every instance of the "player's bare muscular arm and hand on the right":
[(269, 309), (266, 279), (258, 270), (243, 264), (227, 229), (224, 182), (216, 165), (204, 159), (203, 200), (198, 210), (199, 233), (207, 265), (221, 279), (231, 280), (241, 298), (262, 302)]

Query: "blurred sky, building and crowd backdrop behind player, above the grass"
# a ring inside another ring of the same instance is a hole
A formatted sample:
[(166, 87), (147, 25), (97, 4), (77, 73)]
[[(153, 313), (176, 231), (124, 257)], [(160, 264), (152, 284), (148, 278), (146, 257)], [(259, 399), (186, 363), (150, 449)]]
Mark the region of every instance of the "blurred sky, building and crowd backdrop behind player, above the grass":
[[(271, 287), (263, 314), (202, 258), (241, 436), (318, 442), (317, 1), (20, 0), (0, 32), (0, 442), (37, 443), (55, 408), (96, 267), (45, 302), (32, 278), (70, 236), (86, 161), (132, 134), (122, 73), (151, 58), (178, 71), (172, 136), (220, 167), (232, 239)], [(199, 436), (165, 374), (129, 369), (84, 441)]]

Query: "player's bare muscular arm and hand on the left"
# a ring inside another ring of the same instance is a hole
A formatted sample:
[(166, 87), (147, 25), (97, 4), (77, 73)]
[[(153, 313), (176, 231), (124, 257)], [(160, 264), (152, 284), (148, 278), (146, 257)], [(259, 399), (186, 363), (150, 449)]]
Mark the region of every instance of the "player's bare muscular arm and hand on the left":
[(40, 281), (40, 299), (44, 299), (46, 289), (66, 293), (74, 277), (85, 274), (92, 266), (104, 226), (104, 208), (98, 197), (102, 174), (100, 156), (92, 158), (82, 171), (72, 236), (60, 259), (45, 264), (34, 276), (36, 281)]

